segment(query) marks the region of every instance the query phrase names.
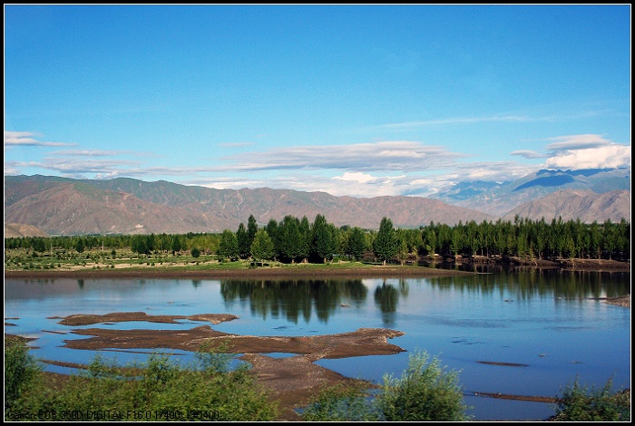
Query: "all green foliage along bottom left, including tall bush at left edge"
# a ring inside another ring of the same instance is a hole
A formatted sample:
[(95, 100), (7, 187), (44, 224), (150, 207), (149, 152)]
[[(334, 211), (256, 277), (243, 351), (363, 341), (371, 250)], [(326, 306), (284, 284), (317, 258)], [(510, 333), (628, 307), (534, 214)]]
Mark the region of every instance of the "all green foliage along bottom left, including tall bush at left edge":
[[(24, 373), (32, 363), (24, 357), (27, 351), (21, 342), (5, 348), (5, 359), (17, 365), (6, 369), (5, 361), (5, 387), (8, 383), (11, 390), (5, 398), (5, 421), (23, 420), (15, 416), (24, 412), (48, 415), (24, 420), (56, 421), (271, 421), (278, 415), (277, 405), (254, 386), (248, 368), (230, 371), (231, 355), (201, 352), (187, 368), (164, 354), (151, 354), (147, 363), (128, 368), (98, 356), (86, 372), (53, 388), (44, 384), (44, 374)], [(63, 419), (64, 413), (75, 416)]]

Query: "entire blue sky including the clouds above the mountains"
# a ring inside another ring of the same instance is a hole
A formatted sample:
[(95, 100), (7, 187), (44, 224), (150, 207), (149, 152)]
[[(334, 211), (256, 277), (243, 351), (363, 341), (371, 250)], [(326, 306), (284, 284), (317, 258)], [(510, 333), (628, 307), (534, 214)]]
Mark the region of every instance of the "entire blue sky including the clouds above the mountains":
[(630, 168), (630, 5), (5, 5), (5, 176), (434, 196)]

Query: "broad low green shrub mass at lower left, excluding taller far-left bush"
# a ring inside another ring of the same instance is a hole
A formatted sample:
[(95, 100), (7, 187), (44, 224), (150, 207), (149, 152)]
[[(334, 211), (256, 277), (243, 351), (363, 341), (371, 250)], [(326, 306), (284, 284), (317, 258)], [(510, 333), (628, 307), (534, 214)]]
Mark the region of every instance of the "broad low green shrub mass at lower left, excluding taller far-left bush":
[[(152, 353), (146, 363), (120, 367), (98, 355), (86, 372), (70, 376), (54, 392), (45, 386), (31, 392), (24, 406), (28, 403), (30, 411), (121, 412), (120, 420), (129, 421), (274, 420), (277, 405), (255, 386), (248, 369), (230, 371), (223, 359), (232, 357), (210, 354), (200, 365), (181, 367), (166, 354)], [(175, 413), (175, 419), (165, 417)]]

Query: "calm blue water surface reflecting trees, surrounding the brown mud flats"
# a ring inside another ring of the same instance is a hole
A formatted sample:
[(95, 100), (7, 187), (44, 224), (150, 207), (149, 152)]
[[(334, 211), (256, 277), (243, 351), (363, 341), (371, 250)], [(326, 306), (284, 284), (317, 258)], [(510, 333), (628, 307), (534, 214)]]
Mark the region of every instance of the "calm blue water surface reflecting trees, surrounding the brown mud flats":
[[(591, 297), (630, 294), (630, 273), (508, 272), (419, 279), (222, 281), (175, 279), (5, 280), (5, 333), (35, 337), (33, 352), (48, 360), (88, 363), (93, 351), (61, 347), (85, 338), (51, 316), (143, 311), (149, 315), (229, 313), (238, 320), (212, 325), (250, 335), (336, 334), (361, 327), (405, 333), (390, 343), (407, 352), (339, 360), (323, 367), (381, 382), (405, 369), (409, 353), (438, 355), (460, 370), (465, 402), (475, 420), (541, 420), (553, 413), (542, 402), (474, 396), (501, 392), (555, 396), (576, 377), (601, 386), (630, 387), (630, 309)], [(189, 329), (180, 324), (119, 323), (90, 327)], [(65, 334), (58, 334), (62, 332)], [(170, 351), (188, 360), (191, 353)], [(118, 363), (144, 353), (103, 351)], [(272, 356), (286, 356), (276, 353)], [(520, 363), (509, 367), (478, 362)], [(67, 369), (46, 366), (49, 371)]]

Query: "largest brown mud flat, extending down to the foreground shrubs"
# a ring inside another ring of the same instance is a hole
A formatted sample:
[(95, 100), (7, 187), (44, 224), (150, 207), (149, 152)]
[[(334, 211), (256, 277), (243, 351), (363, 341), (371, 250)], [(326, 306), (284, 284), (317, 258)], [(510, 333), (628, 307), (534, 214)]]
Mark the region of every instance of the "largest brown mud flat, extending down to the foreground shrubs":
[[(72, 315), (76, 316), (76, 315)], [(108, 315), (103, 315), (108, 316)], [(81, 318), (76, 318), (81, 321)], [(100, 318), (103, 319), (103, 318)], [(307, 404), (320, 388), (340, 382), (363, 382), (335, 373), (315, 362), (322, 358), (347, 358), (364, 355), (389, 355), (405, 352), (388, 339), (403, 332), (387, 328), (360, 328), (355, 332), (313, 336), (250, 336), (226, 334), (200, 325), (190, 330), (106, 330), (88, 328), (73, 334), (91, 335), (87, 339), (65, 341), (73, 349), (130, 351), (139, 348), (171, 348), (197, 351), (201, 346), (242, 353), (239, 359), (252, 365), (257, 381), (280, 402), (280, 420), (298, 421), (294, 410)], [(290, 353), (273, 358), (266, 353)], [(366, 383), (371, 387), (371, 383)]]

